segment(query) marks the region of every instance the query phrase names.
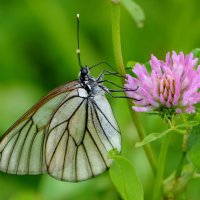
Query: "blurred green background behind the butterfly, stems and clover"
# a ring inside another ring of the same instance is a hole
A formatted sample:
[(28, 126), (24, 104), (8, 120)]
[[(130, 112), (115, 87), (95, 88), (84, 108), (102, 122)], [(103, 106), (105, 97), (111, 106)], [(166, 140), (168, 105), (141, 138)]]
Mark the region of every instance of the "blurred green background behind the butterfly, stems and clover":
[[(151, 53), (163, 59), (166, 52), (185, 53), (200, 47), (199, 0), (140, 0), (146, 20), (138, 29), (121, 9), (121, 40), (125, 63), (146, 62)], [(111, 37), (110, 0), (0, 0), (0, 133), (34, 103), (58, 85), (76, 79), (76, 14), (80, 13), (82, 63), (106, 60), (115, 67)], [(110, 99), (122, 131), (123, 152), (142, 180), (149, 199), (153, 175), (142, 148), (135, 149), (137, 133), (126, 100)], [(122, 113), (121, 110), (124, 110)], [(158, 117), (141, 114), (147, 133), (165, 129)], [(160, 141), (152, 143), (155, 155)], [(180, 159), (181, 137), (170, 144), (166, 175)], [(199, 200), (200, 180), (191, 181), (185, 193)], [(14, 176), (0, 173), (0, 200), (120, 199), (109, 174), (81, 183), (65, 183), (48, 175)]]

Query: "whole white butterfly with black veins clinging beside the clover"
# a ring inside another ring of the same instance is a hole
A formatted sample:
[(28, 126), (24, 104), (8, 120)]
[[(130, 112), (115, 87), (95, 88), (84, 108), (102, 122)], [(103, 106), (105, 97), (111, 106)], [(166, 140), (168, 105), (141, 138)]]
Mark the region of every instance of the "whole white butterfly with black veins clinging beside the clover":
[(0, 171), (82, 181), (110, 166), (108, 151), (121, 150), (103, 75), (92, 77), (89, 68), (82, 67), (79, 51), (78, 39), (79, 79), (51, 91), (2, 137)]

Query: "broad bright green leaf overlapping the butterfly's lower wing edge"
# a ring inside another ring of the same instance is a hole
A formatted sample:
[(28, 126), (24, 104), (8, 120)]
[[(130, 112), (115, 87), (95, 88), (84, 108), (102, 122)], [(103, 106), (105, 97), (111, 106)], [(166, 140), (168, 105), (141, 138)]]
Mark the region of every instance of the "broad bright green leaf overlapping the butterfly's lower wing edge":
[(143, 200), (144, 193), (135, 169), (129, 160), (113, 155), (114, 162), (109, 170), (110, 177), (124, 200)]

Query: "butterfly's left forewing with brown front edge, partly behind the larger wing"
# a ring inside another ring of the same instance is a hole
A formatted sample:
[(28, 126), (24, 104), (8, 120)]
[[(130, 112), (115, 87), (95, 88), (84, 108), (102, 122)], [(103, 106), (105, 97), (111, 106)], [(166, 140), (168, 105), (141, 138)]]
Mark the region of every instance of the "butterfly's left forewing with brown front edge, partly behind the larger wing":
[(3, 136), (0, 142), (0, 170), (12, 174), (46, 172), (44, 143), (48, 122), (62, 101), (78, 95), (73, 81), (61, 86), (33, 106)]

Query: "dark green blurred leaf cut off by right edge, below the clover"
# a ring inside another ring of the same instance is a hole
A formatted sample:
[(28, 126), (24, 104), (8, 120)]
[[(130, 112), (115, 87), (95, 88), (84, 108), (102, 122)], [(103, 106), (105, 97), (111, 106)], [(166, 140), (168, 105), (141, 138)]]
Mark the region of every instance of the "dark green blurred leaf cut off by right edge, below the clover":
[(194, 166), (200, 169), (200, 125), (191, 130), (187, 154)]

